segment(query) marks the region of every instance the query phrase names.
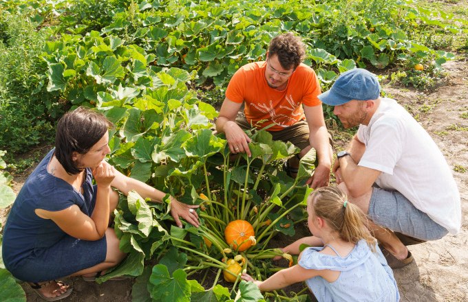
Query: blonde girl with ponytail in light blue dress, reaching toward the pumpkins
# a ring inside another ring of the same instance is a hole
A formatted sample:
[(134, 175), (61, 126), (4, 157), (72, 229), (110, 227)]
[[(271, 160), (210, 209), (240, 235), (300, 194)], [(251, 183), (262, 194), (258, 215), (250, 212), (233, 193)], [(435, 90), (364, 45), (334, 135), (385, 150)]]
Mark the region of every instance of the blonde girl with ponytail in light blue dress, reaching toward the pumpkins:
[[(308, 227), (313, 236), (282, 248), (298, 255), (297, 265), (281, 270), (265, 281), (249, 275), (260, 290), (284, 288), (306, 281), (318, 301), (399, 301), (392, 269), (387, 266), (366, 218), (338, 187), (321, 187), (308, 198)], [(309, 246), (299, 251), (301, 244)], [(320, 246), (320, 247), (316, 247)]]

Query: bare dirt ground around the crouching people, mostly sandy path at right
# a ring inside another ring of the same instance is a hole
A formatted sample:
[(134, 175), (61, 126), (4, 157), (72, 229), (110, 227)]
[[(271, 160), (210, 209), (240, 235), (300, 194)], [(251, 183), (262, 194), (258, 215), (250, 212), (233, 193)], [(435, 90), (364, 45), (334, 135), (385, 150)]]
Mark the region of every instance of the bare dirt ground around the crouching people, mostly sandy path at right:
[[(468, 301), (467, 60), (448, 62), (445, 70), (447, 78), (438, 83), (438, 88), (432, 93), (383, 85), (389, 97), (404, 104), (417, 117), (445, 154), (453, 168), (462, 201), (460, 233), (447, 235), (434, 242), (409, 246), (416, 261), (405, 268), (394, 270), (401, 301)], [(19, 191), (24, 179), (24, 176), (15, 178), (15, 191)], [(74, 287), (74, 292), (63, 301), (131, 301), (131, 280), (107, 281), (101, 285), (85, 282), (81, 278), (70, 278), (67, 281)], [(42, 301), (28, 286), (23, 285), (23, 288), (28, 301)]]

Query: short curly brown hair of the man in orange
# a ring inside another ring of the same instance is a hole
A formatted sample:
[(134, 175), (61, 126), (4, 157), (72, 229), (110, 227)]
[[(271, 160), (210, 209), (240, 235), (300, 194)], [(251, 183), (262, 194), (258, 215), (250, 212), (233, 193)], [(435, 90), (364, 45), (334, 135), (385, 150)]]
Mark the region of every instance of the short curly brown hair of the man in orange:
[(306, 45), (301, 38), (290, 32), (275, 36), (270, 41), (268, 56), (278, 56), (279, 64), (284, 69), (296, 69), (306, 57)]

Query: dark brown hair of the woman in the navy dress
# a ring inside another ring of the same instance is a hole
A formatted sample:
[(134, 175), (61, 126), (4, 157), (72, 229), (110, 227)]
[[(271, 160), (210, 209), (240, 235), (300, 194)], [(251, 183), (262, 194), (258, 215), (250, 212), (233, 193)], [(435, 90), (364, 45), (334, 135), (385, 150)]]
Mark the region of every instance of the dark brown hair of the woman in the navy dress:
[(104, 115), (85, 107), (78, 107), (61, 117), (55, 135), (55, 157), (68, 174), (83, 171), (76, 167), (72, 159), (73, 152), (88, 152), (111, 126), (113, 125)]

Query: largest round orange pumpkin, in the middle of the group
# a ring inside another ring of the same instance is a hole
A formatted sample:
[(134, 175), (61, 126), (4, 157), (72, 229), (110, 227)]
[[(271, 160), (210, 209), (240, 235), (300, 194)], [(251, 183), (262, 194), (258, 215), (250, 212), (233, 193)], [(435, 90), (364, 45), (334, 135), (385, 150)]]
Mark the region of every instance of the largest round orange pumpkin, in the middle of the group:
[[(253, 245), (253, 242), (248, 240), (248, 238), (254, 235), (255, 232), (253, 231), (252, 224), (245, 220), (231, 221), (226, 229), (224, 229), (226, 243), (240, 252), (246, 251), (246, 249)], [(239, 245), (239, 247), (237, 247), (237, 245)]]

